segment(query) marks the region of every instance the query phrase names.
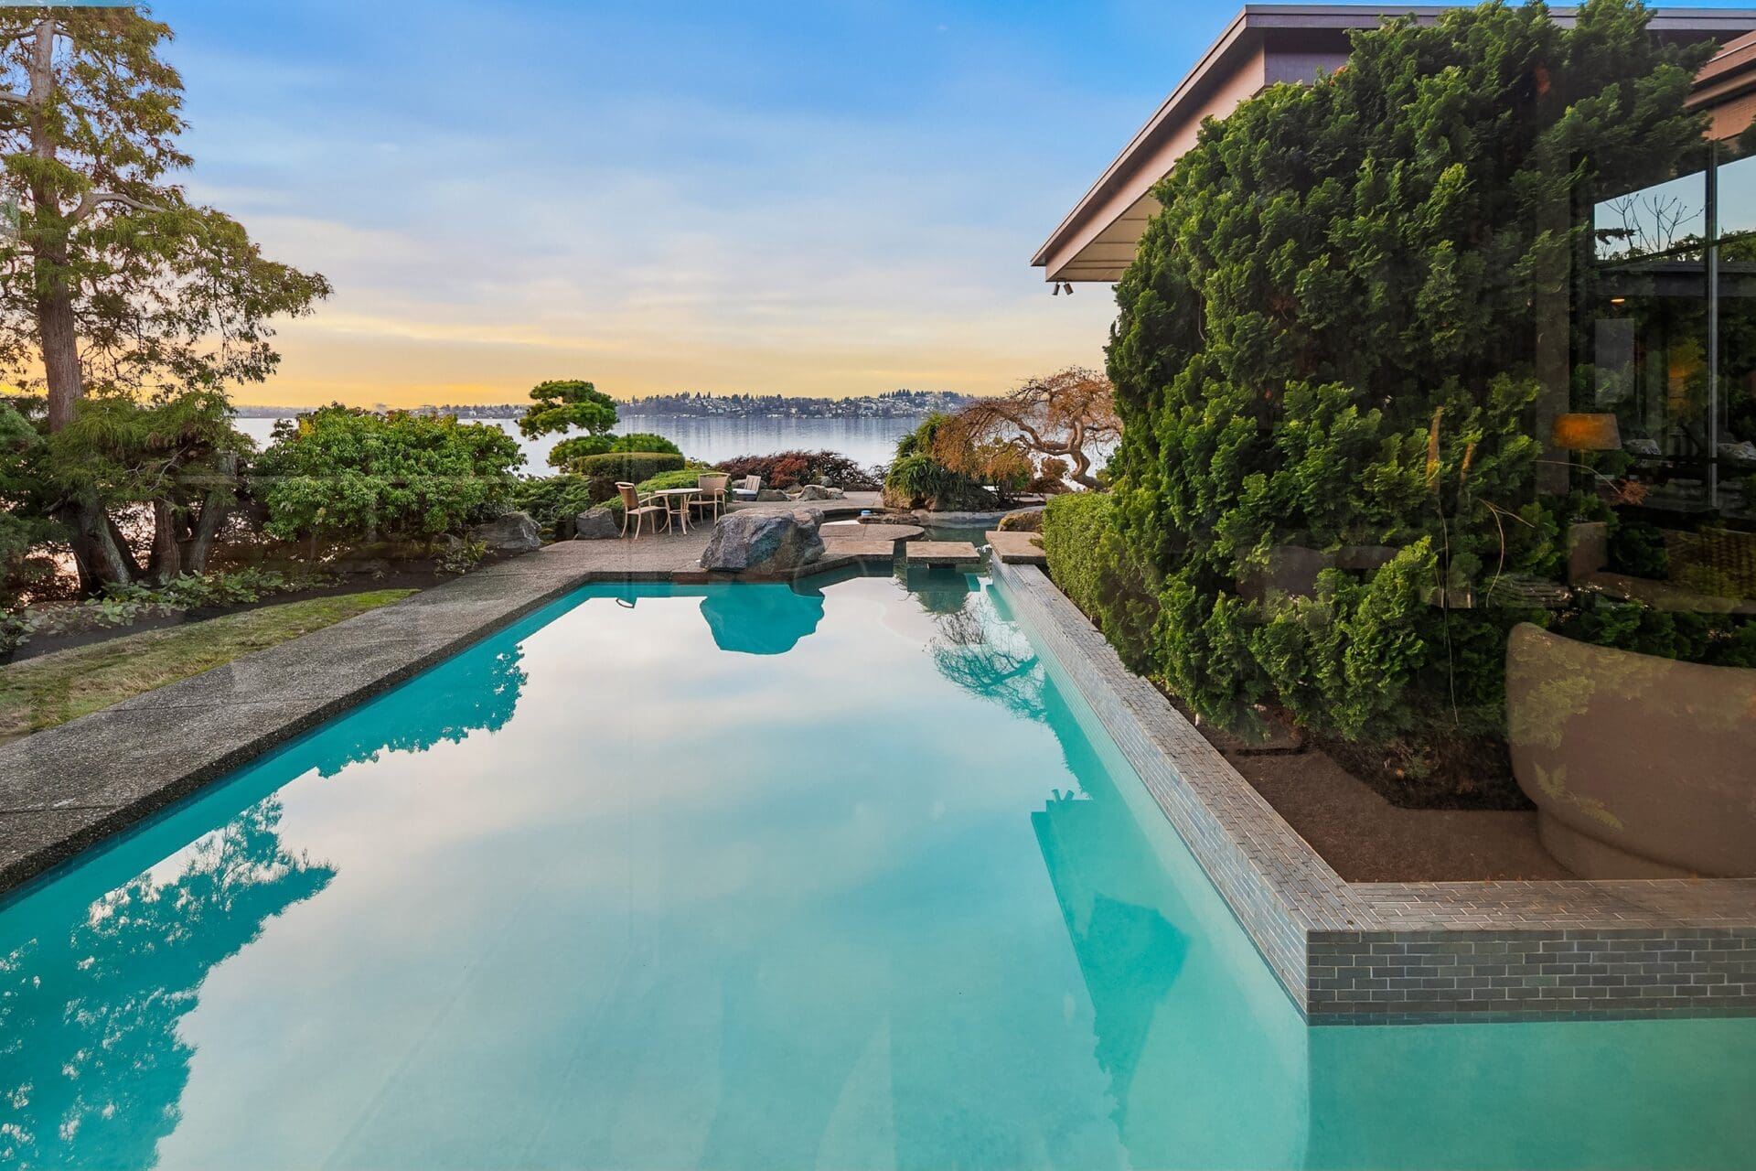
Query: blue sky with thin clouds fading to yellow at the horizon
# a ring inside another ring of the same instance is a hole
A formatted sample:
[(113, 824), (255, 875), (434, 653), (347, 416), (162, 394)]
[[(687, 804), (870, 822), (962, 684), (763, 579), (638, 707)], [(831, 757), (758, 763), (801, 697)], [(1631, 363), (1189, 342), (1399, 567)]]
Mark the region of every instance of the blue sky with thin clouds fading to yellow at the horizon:
[(1098, 365), (1031, 255), (1236, 0), (153, 11), (191, 197), (335, 286), (237, 399), (416, 406)]

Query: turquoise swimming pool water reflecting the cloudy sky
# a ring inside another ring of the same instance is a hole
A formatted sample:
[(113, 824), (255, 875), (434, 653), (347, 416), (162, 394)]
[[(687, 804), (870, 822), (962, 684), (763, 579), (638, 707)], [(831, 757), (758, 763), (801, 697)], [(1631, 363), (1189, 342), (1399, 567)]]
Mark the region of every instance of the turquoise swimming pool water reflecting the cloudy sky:
[(910, 581), (585, 590), (14, 899), (0, 1164), (1756, 1159), (1756, 1020), (1306, 1029)]

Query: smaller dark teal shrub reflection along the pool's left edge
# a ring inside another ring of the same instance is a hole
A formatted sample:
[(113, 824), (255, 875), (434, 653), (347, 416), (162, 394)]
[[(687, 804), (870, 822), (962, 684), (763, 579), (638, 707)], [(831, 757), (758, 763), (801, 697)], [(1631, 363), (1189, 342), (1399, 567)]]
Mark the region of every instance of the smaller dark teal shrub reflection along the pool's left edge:
[(458, 744), (476, 730), (499, 732), (518, 709), (518, 695), (529, 679), (520, 665), (523, 657), (520, 644), (502, 650), (490, 643), (464, 651), (393, 693), (386, 700), (395, 704), (393, 718), (374, 718), (381, 713), (367, 709), (335, 725), (339, 736), (325, 736), (318, 771), (335, 776), (349, 764), (378, 760), (378, 753), (386, 750), (427, 751), (439, 741)]

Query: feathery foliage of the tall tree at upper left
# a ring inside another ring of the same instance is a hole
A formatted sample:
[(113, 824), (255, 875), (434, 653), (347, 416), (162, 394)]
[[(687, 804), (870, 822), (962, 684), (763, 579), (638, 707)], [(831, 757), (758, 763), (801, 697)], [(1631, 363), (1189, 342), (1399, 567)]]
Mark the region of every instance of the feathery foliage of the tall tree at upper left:
[[(0, 12), (9, 68), (39, 19), (40, 7)], [(0, 119), (0, 204), (14, 214), (0, 235), (0, 383), (44, 383), (49, 290), (70, 300), (84, 390), (144, 397), (263, 381), (279, 362), (270, 321), (330, 291), (188, 200), (183, 81), (160, 56), (169, 40), (144, 7), (56, 9), (53, 100), (40, 118), (11, 107)]]

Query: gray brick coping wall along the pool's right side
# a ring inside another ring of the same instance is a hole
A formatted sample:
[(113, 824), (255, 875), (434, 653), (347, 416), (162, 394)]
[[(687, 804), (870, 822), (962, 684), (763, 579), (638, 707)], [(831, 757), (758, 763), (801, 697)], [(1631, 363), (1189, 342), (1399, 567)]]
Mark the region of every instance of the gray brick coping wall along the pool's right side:
[(1041, 569), (992, 572), (1310, 1024), (1756, 1013), (1756, 880), (1343, 881)]

